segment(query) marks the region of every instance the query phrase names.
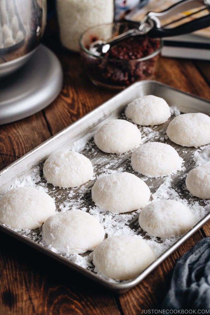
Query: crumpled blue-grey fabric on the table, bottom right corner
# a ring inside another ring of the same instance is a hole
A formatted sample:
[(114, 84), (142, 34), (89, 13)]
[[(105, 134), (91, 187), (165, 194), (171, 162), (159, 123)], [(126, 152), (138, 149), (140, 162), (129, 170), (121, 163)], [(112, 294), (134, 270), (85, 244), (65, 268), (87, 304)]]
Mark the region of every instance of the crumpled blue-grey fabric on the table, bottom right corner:
[(210, 309), (210, 237), (177, 260), (162, 309)]

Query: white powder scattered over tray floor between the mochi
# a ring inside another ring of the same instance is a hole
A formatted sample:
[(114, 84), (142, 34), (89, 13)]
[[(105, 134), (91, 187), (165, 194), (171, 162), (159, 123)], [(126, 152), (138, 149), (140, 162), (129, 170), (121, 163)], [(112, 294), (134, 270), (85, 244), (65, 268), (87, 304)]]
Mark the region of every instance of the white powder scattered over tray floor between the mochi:
[[(171, 110), (174, 115), (179, 114), (179, 110), (173, 108)], [(125, 119), (124, 117), (122, 117)], [(139, 127), (142, 134), (142, 142), (147, 141), (161, 141), (167, 143), (166, 136), (167, 123), (150, 127)], [(170, 143), (171, 144), (171, 143)], [(171, 144), (172, 145), (172, 144)], [(118, 172), (131, 172), (141, 179), (143, 179), (146, 184), (150, 187), (151, 198), (150, 202), (154, 202), (162, 199), (173, 199), (184, 203), (189, 207), (191, 212), (196, 217), (196, 223), (199, 222), (207, 213), (210, 212), (210, 201), (201, 200), (190, 195), (185, 186), (186, 178), (186, 168), (185, 165), (191, 165), (191, 168), (196, 165), (201, 165), (209, 161), (210, 157), (210, 145), (203, 146), (199, 149), (186, 148), (180, 149), (180, 146), (173, 144), (177, 149), (180, 157), (184, 158), (184, 165), (180, 171), (174, 175), (165, 176), (157, 179), (150, 179), (133, 171), (131, 167), (131, 154), (128, 152), (125, 154), (108, 154), (101, 152), (97, 146), (94, 144), (94, 133), (85, 135), (82, 139), (75, 141), (73, 146), (69, 148), (72, 151), (80, 152), (87, 156), (94, 167), (94, 178), (90, 180), (85, 185), (72, 189), (62, 189), (59, 187), (54, 187), (48, 184), (43, 178), (42, 165), (37, 166), (34, 169), (32, 175), (24, 177), (22, 180), (16, 179), (12, 184), (11, 188), (18, 186), (31, 186), (37, 189), (44, 190), (54, 198), (57, 204), (57, 211), (68, 211), (71, 209), (81, 209), (82, 211), (87, 211), (91, 215), (95, 216), (105, 229), (106, 237), (113, 235), (132, 235), (134, 237), (144, 238), (145, 241), (151, 246), (156, 257), (159, 257), (163, 252), (165, 252), (172, 244), (177, 241), (178, 238), (171, 239), (160, 239), (155, 237), (149, 237), (146, 232), (142, 231), (139, 227), (138, 216), (141, 210), (123, 213), (123, 214), (113, 214), (110, 212), (101, 211), (96, 207), (91, 199), (91, 188), (94, 181), (101, 176), (118, 173)], [(209, 163), (209, 162), (208, 162)], [(95, 268), (92, 263), (92, 252), (87, 252), (82, 255), (64, 255), (58, 252), (57, 249), (52, 246), (46, 246), (42, 240), (42, 227), (36, 230), (18, 230), (12, 229), (23, 236), (32, 239), (34, 242), (38, 243), (40, 246), (47, 247), (53, 252), (62, 255), (73, 263), (82, 266), (98, 276), (106, 278), (104, 275)], [(111, 282), (119, 282), (113, 279), (108, 279)]]

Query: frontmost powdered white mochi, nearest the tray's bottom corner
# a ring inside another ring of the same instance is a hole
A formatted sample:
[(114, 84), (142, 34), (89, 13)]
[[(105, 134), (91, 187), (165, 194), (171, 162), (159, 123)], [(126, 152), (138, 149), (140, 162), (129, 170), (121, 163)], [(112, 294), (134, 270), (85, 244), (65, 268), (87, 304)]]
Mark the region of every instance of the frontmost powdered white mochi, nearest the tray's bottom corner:
[(136, 277), (154, 260), (150, 246), (130, 235), (106, 238), (93, 251), (93, 263), (99, 271), (118, 280)]

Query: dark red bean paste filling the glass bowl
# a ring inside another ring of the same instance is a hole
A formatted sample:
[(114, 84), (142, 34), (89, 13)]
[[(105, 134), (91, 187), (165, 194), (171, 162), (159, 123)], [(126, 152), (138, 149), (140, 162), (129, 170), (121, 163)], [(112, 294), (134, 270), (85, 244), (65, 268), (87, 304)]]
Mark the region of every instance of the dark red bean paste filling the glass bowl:
[(158, 55), (147, 60), (146, 57), (160, 47), (157, 39), (147, 36), (133, 36), (123, 40), (102, 54), (104, 57), (85, 60), (88, 75), (96, 82), (110, 86), (124, 87), (139, 80), (150, 79), (156, 72)]

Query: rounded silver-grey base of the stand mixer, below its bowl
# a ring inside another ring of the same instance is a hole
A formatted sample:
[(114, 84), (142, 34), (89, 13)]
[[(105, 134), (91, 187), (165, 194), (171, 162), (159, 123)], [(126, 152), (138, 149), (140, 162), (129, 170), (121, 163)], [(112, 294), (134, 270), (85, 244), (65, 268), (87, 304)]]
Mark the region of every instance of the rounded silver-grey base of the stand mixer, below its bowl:
[(60, 93), (63, 72), (55, 54), (39, 45), (29, 57), (12, 76), (0, 78), (0, 124), (39, 112)]

